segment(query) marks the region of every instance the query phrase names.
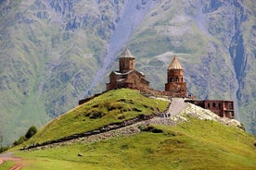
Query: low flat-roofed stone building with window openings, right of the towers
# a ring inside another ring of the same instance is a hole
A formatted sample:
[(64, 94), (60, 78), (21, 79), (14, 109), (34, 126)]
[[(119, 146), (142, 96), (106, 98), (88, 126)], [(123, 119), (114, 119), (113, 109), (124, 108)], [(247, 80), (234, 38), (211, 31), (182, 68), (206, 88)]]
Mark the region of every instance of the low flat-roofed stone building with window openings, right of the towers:
[(204, 109), (209, 109), (211, 112), (221, 117), (234, 118), (234, 102), (233, 101), (221, 101), (221, 100), (186, 100), (188, 103), (194, 103)]

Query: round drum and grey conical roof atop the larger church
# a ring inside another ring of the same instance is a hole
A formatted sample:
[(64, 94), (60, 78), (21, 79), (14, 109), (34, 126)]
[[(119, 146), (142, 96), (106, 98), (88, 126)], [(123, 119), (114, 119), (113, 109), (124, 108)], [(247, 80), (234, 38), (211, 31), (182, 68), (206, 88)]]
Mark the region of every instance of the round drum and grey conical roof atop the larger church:
[(126, 47), (122, 54), (119, 57), (119, 70), (123, 72), (127, 72), (135, 69), (135, 59), (134, 55), (131, 55), (131, 52)]

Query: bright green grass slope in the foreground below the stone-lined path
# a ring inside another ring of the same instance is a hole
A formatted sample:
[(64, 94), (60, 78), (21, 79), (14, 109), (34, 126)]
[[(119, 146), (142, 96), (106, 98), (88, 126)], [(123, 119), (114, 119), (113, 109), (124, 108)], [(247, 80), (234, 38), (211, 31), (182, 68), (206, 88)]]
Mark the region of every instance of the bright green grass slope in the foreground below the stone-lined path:
[[(162, 133), (141, 132), (61, 148), (18, 152), (24, 169), (253, 169), (254, 138), (238, 128), (189, 118)], [(82, 153), (83, 157), (77, 156)]]

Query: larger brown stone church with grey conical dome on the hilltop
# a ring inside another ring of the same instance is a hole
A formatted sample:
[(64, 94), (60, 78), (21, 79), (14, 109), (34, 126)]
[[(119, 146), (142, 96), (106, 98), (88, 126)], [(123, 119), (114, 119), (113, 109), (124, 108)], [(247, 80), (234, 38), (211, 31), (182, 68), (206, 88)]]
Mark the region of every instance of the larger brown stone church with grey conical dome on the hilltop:
[(125, 48), (119, 57), (119, 69), (110, 73), (109, 83), (106, 84), (107, 91), (120, 88), (145, 91), (149, 88), (145, 75), (135, 70), (135, 58), (128, 48)]

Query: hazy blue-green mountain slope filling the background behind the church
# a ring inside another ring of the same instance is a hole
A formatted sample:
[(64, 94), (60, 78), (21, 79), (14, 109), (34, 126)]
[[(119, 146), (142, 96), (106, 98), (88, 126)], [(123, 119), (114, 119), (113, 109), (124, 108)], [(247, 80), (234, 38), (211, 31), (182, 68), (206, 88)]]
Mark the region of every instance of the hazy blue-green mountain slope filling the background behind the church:
[(127, 44), (163, 90), (177, 55), (189, 93), (234, 100), (256, 133), (255, 5), (245, 0), (0, 1), (0, 136), (9, 144), (105, 90)]

